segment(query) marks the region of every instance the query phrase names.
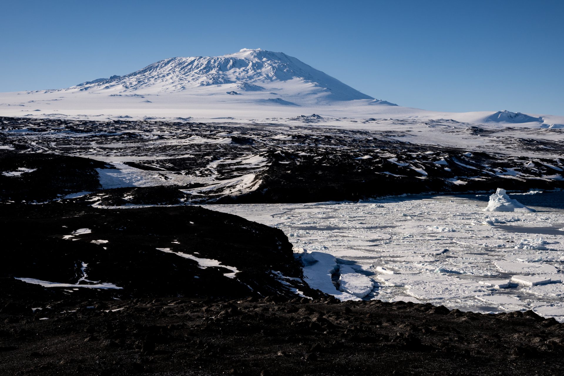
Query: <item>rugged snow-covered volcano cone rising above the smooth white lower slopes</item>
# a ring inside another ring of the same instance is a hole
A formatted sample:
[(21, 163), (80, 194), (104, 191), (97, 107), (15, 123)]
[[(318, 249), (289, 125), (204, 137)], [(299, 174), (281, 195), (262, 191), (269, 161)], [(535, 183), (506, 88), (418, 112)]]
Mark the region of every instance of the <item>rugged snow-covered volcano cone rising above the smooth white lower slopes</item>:
[[(215, 57), (173, 57), (125, 76), (95, 79), (69, 88), (76, 89), (146, 94), (186, 91), (194, 95), (253, 92), (253, 96), (283, 104), (373, 99), (296, 57), (260, 48), (243, 48)], [(284, 98), (288, 96), (297, 98)]]

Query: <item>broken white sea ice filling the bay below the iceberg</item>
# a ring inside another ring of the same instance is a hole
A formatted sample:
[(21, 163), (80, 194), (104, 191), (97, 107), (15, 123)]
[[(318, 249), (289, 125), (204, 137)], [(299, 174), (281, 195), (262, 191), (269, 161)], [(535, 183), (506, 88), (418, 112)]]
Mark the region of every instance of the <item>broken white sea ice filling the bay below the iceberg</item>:
[(564, 210), (484, 213), (486, 205), (470, 196), (420, 196), (211, 208), (282, 229), (307, 261), (306, 280), (339, 299), (360, 299), (372, 282), (364, 299), (533, 309), (564, 321), (564, 232), (557, 231)]

